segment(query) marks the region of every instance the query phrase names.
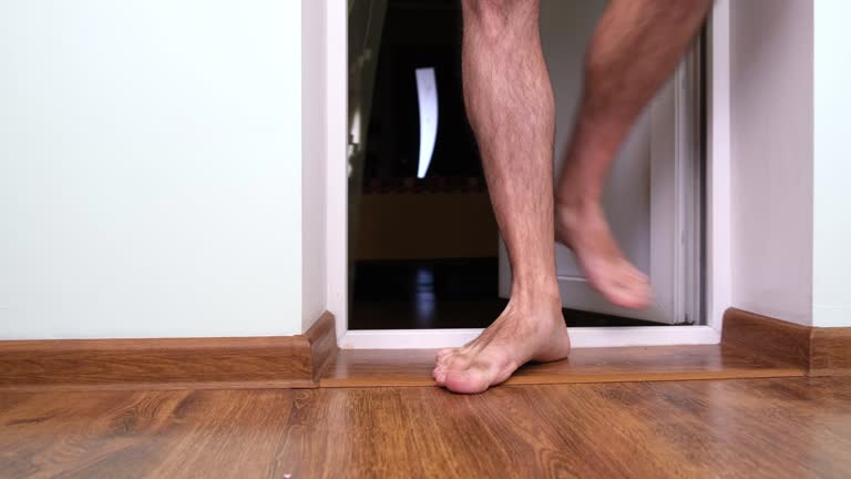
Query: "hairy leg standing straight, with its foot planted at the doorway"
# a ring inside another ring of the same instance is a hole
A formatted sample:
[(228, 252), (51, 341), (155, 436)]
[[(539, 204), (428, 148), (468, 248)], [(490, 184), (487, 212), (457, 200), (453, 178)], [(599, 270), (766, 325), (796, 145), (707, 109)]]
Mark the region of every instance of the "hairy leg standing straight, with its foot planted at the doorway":
[(463, 83), (496, 221), (512, 268), (511, 299), (482, 335), (438, 354), (434, 379), (480, 393), (530, 360), (570, 351), (555, 278), (555, 108), (536, 0), (463, 0)]

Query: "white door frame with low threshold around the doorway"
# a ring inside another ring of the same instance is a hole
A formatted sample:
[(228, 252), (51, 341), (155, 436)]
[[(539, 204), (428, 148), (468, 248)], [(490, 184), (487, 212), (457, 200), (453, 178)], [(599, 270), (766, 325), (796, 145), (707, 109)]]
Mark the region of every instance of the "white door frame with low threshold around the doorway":
[[(338, 344), (356, 349), (461, 346), (481, 329), (348, 330), (347, 28), (346, 0), (326, 0), (326, 265), (327, 309), (337, 319)], [(708, 24), (706, 326), (568, 328), (574, 347), (717, 344), (730, 305), (729, 0), (718, 0)]]

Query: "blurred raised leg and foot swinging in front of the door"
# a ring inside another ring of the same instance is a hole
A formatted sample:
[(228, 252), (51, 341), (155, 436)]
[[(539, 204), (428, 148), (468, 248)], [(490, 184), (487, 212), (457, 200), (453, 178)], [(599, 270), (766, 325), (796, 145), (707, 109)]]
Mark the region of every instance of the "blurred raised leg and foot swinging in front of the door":
[(642, 109), (700, 28), (711, 0), (612, 0), (586, 55), (585, 90), (555, 192), (556, 238), (612, 303), (650, 302), (647, 277), (624, 257), (601, 196), (612, 160)]

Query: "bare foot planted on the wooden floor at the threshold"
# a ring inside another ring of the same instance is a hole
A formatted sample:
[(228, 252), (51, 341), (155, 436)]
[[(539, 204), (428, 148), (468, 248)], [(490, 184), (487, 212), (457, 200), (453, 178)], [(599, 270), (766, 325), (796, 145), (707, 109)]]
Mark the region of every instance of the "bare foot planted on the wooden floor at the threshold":
[(517, 297), (512, 297), (481, 336), (463, 347), (438, 353), (432, 373), (438, 385), (454, 393), (482, 393), (531, 360), (546, 363), (567, 357), (571, 340), (557, 294)]

